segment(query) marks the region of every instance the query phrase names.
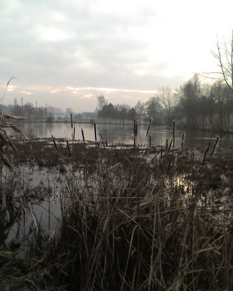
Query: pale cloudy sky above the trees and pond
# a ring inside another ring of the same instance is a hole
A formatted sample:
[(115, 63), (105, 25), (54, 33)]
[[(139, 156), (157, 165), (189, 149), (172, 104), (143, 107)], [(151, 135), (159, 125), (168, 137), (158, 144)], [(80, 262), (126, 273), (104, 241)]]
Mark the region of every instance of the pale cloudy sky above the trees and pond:
[(0, 97), (17, 77), (2, 104), (93, 112), (103, 95), (133, 107), (217, 71), (210, 51), (231, 38), (232, 11), (229, 0), (1, 0)]

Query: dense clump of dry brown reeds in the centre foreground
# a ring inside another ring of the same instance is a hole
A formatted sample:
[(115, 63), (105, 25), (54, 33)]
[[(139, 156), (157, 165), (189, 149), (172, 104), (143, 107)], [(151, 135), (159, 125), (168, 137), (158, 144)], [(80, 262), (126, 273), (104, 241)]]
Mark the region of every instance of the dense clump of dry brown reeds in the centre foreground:
[(107, 153), (94, 182), (87, 178), (79, 187), (71, 173), (70, 198), (51, 248), (60, 284), (82, 291), (232, 290), (233, 257), (225, 254), (233, 244), (232, 218), (223, 226), (220, 212), (213, 215), (203, 200), (203, 168), (194, 152), (185, 169), (179, 165), (184, 152), (166, 153), (151, 166), (145, 154), (123, 154), (116, 162), (118, 151)]

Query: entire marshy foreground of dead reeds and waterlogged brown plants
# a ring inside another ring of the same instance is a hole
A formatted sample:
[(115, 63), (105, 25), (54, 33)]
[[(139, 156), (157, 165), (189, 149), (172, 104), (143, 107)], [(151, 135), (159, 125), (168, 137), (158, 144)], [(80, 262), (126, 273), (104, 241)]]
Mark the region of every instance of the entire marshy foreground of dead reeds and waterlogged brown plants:
[[(1, 168), (0, 290), (233, 290), (231, 153), (14, 145), (14, 170)], [(62, 186), (38, 177), (39, 188), (25, 167), (59, 173)], [(33, 211), (52, 197), (53, 233)]]

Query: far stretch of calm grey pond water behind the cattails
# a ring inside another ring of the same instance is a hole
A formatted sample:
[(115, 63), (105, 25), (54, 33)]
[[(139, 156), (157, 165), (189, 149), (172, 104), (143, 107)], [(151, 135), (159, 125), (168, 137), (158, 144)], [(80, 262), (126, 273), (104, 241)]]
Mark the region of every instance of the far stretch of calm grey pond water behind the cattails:
[[(85, 140), (95, 141), (95, 132), (93, 124), (76, 123), (73, 126), (73, 134), (76, 140), (83, 140), (83, 128)], [(69, 123), (21, 123), (21, 131), (29, 136), (37, 136), (40, 138), (49, 138), (51, 134), (55, 138), (72, 139), (72, 129)], [(119, 124), (97, 124), (97, 141), (100, 140), (100, 134), (104, 142), (107, 140), (108, 144), (120, 143), (133, 145), (133, 124), (119, 125)], [(148, 139), (146, 140), (148, 126), (139, 125), (137, 134), (137, 145), (148, 146)], [(12, 132), (15, 134), (15, 132)], [(175, 130), (175, 146), (182, 145), (182, 130)], [(151, 146), (165, 146), (166, 140), (172, 138), (172, 128), (167, 126), (152, 126), (150, 129)], [(212, 144), (216, 140), (216, 133), (206, 130), (185, 130), (184, 131), (184, 147), (187, 148), (205, 148), (212, 139)], [(229, 149), (233, 147), (233, 134), (227, 133), (220, 137), (217, 148)]]

